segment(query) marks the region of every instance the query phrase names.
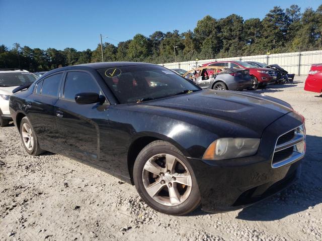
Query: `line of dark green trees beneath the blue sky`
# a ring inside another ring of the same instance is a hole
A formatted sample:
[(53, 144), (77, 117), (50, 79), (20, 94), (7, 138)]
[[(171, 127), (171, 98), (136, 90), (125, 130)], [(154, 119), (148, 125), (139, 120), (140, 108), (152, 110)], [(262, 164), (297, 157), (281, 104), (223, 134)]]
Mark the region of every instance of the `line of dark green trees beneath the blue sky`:
[[(286, 10), (274, 7), (263, 20), (232, 14), (215, 19), (205, 16), (193, 31), (156, 31), (149, 37), (137, 34), (117, 46), (103, 43), (104, 61), (169, 63), (266, 53), (322, 49), (322, 5), (301, 13), (297, 5)], [(101, 44), (95, 50), (74, 48), (31, 49), (15, 43), (0, 45), (0, 68), (46, 71), (62, 66), (101, 62)]]

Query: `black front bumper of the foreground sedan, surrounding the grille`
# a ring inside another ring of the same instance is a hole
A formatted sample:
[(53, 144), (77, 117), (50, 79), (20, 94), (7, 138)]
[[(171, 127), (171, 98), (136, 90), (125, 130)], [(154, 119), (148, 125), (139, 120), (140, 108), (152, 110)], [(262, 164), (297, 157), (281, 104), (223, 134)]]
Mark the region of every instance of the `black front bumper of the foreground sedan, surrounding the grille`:
[(197, 178), (202, 209), (223, 212), (243, 208), (294, 183), (301, 161), (272, 168), (272, 157), (278, 137), (300, 125), (300, 117), (293, 112), (282, 116), (265, 129), (259, 150), (251, 157), (221, 161), (188, 158)]

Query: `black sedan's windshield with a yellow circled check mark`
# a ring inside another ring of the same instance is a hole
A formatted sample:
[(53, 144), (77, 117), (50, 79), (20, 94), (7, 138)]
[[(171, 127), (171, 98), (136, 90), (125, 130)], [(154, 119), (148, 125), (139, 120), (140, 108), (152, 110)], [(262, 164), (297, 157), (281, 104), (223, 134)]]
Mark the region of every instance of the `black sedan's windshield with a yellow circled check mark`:
[(162, 66), (136, 65), (99, 69), (121, 104), (169, 97), (201, 90)]

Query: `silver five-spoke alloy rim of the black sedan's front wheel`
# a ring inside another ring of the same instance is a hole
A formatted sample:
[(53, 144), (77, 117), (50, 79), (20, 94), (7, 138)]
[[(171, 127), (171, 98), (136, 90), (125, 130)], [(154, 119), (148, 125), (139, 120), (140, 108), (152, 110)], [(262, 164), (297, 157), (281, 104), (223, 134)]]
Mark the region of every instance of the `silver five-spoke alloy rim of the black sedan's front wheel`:
[(148, 195), (166, 206), (183, 203), (192, 189), (192, 178), (188, 168), (170, 154), (151, 157), (143, 167), (142, 180)]

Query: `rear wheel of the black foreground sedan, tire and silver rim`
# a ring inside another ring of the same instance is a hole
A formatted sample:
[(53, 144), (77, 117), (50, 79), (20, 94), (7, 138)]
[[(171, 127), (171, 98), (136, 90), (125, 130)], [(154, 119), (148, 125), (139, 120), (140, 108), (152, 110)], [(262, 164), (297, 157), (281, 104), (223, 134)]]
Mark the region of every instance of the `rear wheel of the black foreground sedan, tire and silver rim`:
[(37, 136), (27, 117), (23, 117), (21, 120), (20, 136), (23, 146), (29, 155), (37, 156), (44, 152), (39, 147)]

